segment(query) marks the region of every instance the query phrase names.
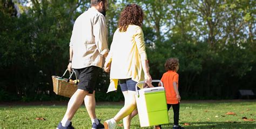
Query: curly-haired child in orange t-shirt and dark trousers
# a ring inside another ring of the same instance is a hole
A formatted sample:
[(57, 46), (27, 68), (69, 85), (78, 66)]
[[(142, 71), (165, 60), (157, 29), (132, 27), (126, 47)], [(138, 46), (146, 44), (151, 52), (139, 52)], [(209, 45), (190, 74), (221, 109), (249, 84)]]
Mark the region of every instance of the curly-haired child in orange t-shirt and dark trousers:
[[(173, 129), (181, 129), (184, 127), (179, 126), (179, 91), (178, 91), (178, 80), (179, 74), (179, 60), (177, 58), (169, 58), (165, 62), (165, 72), (161, 78), (161, 82), (164, 84), (167, 110), (169, 111), (170, 107), (173, 108), (174, 113), (174, 125)], [(158, 86), (161, 86), (160, 83)]]

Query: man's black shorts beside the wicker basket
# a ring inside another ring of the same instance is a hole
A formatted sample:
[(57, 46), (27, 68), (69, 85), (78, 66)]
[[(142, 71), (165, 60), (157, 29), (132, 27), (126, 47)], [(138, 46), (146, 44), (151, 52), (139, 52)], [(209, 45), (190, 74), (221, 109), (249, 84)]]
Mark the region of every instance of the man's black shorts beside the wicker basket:
[(93, 93), (99, 75), (100, 67), (89, 66), (83, 69), (75, 69), (79, 79), (78, 89)]

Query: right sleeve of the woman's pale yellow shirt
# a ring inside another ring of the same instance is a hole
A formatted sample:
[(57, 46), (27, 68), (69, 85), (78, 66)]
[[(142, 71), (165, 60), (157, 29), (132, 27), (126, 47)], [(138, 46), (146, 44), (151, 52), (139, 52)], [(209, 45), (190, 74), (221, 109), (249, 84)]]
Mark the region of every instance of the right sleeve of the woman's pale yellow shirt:
[(144, 42), (144, 34), (142, 31), (142, 28), (140, 28), (138, 26), (138, 28), (136, 28), (136, 33), (134, 35), (134, 39), (139, 51), (139, 55), (140, 55), (140, 59), (141, 60), (147, 60), (147, 54), (146, 54), (146, 46), (145, 46), (145, 42)]

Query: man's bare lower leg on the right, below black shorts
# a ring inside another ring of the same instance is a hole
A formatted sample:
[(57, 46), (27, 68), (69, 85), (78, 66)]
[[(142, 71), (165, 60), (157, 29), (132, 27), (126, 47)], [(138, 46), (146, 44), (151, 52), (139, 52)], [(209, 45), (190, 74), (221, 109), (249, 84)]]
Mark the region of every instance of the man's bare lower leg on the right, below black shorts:
[(84, 98), (84, 104), (86, 107), (86, 110), (90, 116), (91, 119), (96, 118), (96, 113), (95, 113), (95, 106), (96, 106), (96, 101), (95, 101), (95, 91), (93, 91), (93, 94), (87, 94)]

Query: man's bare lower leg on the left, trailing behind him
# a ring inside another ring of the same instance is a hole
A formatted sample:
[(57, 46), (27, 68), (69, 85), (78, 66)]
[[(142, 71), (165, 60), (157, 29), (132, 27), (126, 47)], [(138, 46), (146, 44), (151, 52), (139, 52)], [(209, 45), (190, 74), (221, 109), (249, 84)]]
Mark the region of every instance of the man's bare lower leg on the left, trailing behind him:
[(66, 110), (65, 116), (63, 117), (71, 120), (75, 113), (77, 112), (78, 108), (84, 101), (84, 97), (88, 94), (88, 91), (78, 89), (73, 96), (69, 100), (68, 108)]

